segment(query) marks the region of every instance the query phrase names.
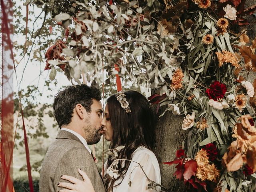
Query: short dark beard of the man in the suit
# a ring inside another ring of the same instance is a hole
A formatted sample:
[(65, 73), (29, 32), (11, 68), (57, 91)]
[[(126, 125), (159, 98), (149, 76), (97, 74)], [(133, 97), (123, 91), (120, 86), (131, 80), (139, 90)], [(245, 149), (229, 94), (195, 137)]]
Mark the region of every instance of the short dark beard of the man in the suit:
[(98, 130), (95, 130), (90, 123), (88, 123), (88, 125), (84, 127), (84, 132), (87, 135), (86, 142), (88, 145), (96, 144), (100, 141), (102, 135), (101, 130), (101, 127), (99, 127)]

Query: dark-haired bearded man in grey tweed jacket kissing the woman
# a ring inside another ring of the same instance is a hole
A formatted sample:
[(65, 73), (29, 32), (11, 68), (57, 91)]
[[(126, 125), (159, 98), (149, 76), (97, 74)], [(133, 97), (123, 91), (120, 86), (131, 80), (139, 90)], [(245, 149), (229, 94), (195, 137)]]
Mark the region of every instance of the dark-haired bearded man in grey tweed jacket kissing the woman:
[(100, 90), (85, 84), (68, 86), (59, 92), (53, 103), (54, 116), (60, 131), (50, 145), (40, 172), (40, 192), (56, 192), (60, 176), (74, 176), (82, 180), (78, 168), (86, 172), (95, 192), (104, 192), (104, 182), (92, 157), (88, 144), (100, 141), (102, 104)]

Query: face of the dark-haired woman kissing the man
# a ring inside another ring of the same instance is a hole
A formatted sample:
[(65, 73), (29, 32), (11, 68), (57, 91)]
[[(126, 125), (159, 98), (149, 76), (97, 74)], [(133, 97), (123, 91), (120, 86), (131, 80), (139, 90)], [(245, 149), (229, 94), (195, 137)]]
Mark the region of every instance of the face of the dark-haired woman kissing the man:
[(103, 130), (103, 134), (108, 141), (112, 141), (113, 137), (113, 129), (110, 123), (109, 113), (108, 113), (108, 105), (105, 107), (104, 118), (101, 121), (101, 126)]

